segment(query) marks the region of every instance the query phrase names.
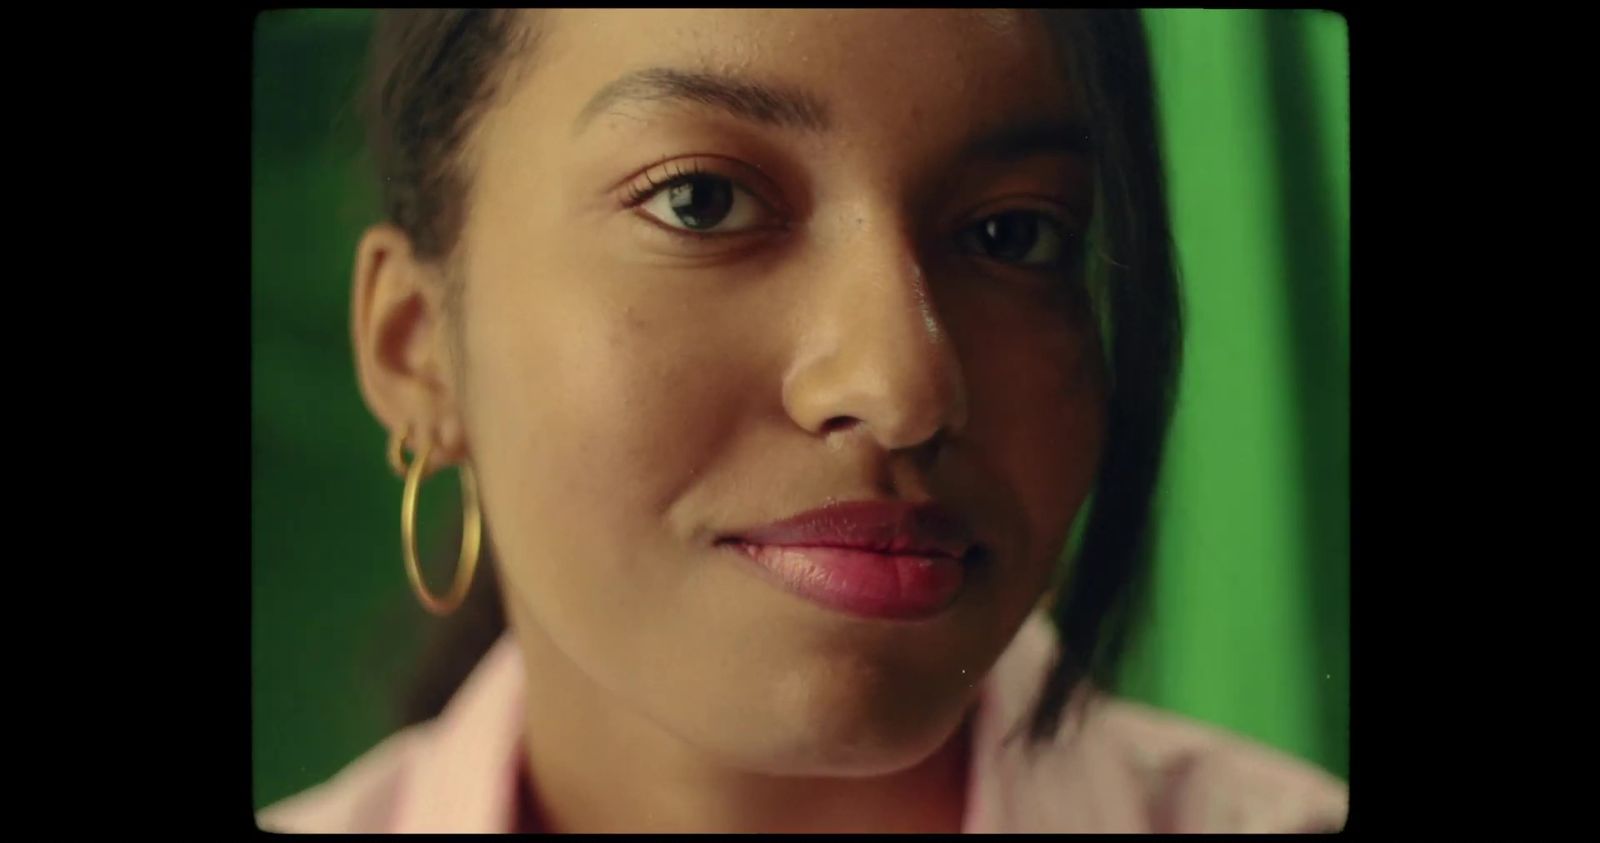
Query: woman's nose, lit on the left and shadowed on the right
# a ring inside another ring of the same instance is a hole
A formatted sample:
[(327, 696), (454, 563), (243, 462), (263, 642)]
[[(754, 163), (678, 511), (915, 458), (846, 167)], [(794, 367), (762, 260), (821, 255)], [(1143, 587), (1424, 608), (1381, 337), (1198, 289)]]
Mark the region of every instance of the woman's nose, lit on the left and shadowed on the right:
[(962, 366), (915, 240), (862, 226), (843, 240), (808, 280), (784, 408), (818, 435), (861, 427), (885, 451), (958, 432)]

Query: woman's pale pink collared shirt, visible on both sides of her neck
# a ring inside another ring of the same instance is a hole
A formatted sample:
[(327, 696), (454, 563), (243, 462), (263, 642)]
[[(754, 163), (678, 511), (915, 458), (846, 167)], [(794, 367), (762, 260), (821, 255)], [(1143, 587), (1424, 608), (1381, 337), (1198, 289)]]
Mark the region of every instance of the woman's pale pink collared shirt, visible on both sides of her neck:
[[(1224, 731), (1096, 697), (1045, 747), (1003, 737), (1054, 656), (1035, 614), (984, 680), (963, 832), (1333, 832), (1344, 782)], [(501, 638), (435, 720), (410, 726), (328, 782), (258, 814), (282, 832), (514, 832), (526, 822), (523, 686)]]

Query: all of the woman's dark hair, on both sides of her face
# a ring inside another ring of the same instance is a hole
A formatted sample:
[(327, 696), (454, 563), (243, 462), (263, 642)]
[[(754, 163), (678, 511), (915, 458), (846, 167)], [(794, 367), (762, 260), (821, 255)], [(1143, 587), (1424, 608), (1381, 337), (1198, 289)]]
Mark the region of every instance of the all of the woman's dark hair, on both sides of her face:
[[(368, 78), (368, 130), (387, 219), (424, 258), (461, 232), (470, 178), (462, 141), (494, 94), (496, 70), (525, 50), (507, 11), (387, 11)], [(1149, 579), (1150, 505), (1181, 358), (1181, 302), (1162, 178), (1155, 94), (1134, 10), (1043, 11), (1088, 117), (1096, 181), (1090, 283), (1107, 352), (1107, 435), (1082, 541), (1051, 608), (1061, 654), (1027, 731), (1053, 736), (1085, 680), (1115, 683)], [(493, 542), (485, 542), (491, 547)], [(504, 630), (496, 565), (440, 624), (403, 715), (437, 715)]]

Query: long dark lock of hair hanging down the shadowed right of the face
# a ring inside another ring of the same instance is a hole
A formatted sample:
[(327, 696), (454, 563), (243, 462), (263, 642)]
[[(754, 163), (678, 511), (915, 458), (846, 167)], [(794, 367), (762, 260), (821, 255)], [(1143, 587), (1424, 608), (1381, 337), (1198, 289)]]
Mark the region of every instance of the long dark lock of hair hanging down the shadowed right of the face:
[(1149, 566), (1150, 502), (1182, 357), (1182, 304), (1166, 211), (1155, 85), (1136, 10), (1045, 13), (1082, 98), (1094, 154), (1098, 250), (1107, 315), (1106, 448), (1083, 539), (1051, 619), (1061, 654), (1029, 728), (1054, 734), (1085, 678), (1115, 683)]

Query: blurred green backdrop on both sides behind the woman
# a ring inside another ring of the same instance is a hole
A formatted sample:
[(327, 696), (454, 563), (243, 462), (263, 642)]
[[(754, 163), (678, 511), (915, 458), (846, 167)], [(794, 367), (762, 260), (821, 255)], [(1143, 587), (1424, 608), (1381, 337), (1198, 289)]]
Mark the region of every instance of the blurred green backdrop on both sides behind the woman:
[[(1189, 336), (1155, 590), (1123, 693), (1347, 776), (1346, 24), (1277, 10), (1146, 22)], [(256, 22), (256, 808), (397, 728), (430, 622), (405, 581), (400, 485), (349, 344), (355, 240), (376, 219), (350, 110), (370, 26), (368, 11)], [(426, 493), (422, 510), (448, 494)]]

